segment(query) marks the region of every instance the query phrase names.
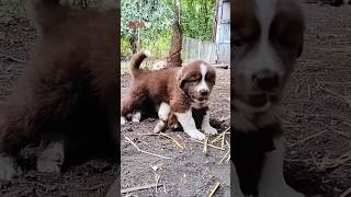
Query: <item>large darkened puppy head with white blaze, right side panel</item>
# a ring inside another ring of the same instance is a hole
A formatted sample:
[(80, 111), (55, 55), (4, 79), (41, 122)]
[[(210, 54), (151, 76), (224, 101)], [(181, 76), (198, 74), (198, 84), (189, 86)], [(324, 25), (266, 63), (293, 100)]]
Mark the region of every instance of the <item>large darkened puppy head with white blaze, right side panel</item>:
[(231, 13), (236, 102), (267, 111), (302, 54), (303, 13), (293, 0), (235, 0)]

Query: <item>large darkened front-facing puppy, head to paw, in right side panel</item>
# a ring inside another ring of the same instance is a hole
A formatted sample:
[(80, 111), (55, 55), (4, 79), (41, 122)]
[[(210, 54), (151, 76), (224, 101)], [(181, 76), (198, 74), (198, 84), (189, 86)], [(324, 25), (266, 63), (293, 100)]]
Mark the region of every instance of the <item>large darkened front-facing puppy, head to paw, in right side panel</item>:
[(280, 102), (303, 50), (294, 0), (234, 0), (233, 160), (244, 195), (302, 197), (284, 181)]

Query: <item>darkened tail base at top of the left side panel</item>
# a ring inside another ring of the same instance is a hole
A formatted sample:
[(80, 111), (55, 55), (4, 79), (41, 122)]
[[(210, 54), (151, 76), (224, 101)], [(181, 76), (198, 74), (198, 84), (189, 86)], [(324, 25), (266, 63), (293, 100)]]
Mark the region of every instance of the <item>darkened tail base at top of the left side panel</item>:
[(58, 23), (66, 12), (59, 0), (30, 0), (30, 14), (42, 32)]

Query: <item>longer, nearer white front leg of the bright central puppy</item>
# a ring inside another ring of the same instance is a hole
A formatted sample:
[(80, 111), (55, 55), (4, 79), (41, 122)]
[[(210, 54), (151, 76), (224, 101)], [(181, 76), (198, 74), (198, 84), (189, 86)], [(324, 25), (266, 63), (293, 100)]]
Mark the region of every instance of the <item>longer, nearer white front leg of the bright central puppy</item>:
[(178, 121), (182, 125), (184, 132), (188, 134), (191, 138), (197, 140), (204, 140), (206, 136), (196, 129), (195, 120), (191, 109), (185, 111), (184, 113), (174, 113)]

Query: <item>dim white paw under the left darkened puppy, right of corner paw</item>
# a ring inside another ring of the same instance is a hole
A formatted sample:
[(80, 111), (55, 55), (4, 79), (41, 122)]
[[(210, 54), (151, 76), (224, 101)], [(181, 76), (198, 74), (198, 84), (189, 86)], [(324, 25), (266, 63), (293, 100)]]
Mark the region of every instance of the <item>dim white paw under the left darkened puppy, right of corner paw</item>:
[(39, 153), (36, 162), (38, 172), (59, 173), (65, 161), (64, 141), (50, 142)]

